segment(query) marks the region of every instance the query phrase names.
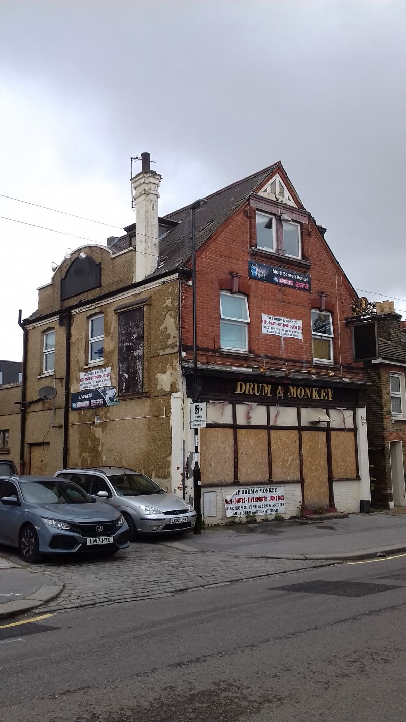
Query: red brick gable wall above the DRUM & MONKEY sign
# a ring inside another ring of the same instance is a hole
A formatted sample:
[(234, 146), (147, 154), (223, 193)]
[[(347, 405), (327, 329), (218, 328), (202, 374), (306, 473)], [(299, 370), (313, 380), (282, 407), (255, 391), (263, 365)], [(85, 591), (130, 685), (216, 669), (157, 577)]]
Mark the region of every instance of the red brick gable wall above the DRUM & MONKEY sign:
[[(281, 173), (281, 171), (279, 171)], [(263, 185), (263, 184), (262, 184)], [(291, 187), (291, 186), (290, 186)], [(319, 293), (325, 294), (326, 308), (333, 314), (334, 365), (317, 365), (317, 370), (348, 378), (362, 377), (362, 365), (353, 364), (351, 329), (345, 327), (344, 318), (350, 316), (351, 302), (357, 298), (348, 279), (340, 269), (330, 248), (320, 235), (312, 220), (303, 226), (304, 258), (310, 265), (292, 258), (263, 253), (255, 248), (255, 260), (265, 264), (278, 264), (289, 269), (309, 273), (312, 293), (279, 287), (248, 278), (248, 260), (252, 259), (250, 247), (255, 243), (255, 224), (252, 227), (252, 209), (249, 203), (240, 208), (233, 217), (209, 238), (198, 251), (198, 349), (200, 362), (224, 363), (224, 365), (280, 367), (287, 362), (291, 368), (306, 370), (314, 365), (312, 360), (311, 308), (319, 308)], [(254, 236), (254, 237), (253, 237)], [(270, 255), (272, 258), (270, 258)], [(239, 292), (249, 297), (250, 325), (247, 355), (224, 352), (220, 349), (219, 292), (231, 290), (231, 274), (239, 277)], [(193, 344), (192, 289), (182, 284), (184, 297), (181, 310), (182, 348), (190, 357)], [(303, 322), (303, 341), (299, 339), (262, 334), (262, 313)]]

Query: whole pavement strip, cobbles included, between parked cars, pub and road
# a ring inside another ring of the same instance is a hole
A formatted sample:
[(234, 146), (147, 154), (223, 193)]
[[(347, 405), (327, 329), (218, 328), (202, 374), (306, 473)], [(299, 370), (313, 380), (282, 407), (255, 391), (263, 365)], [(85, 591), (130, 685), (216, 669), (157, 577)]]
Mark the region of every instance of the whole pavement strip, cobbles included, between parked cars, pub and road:
[(114, 557), (48, 557), (26, 565), (0, 547), (0, 619), (160, 599), (340, 561), (406, 552), (406, 516), (351, 515), (205, 529), (147, 539)]

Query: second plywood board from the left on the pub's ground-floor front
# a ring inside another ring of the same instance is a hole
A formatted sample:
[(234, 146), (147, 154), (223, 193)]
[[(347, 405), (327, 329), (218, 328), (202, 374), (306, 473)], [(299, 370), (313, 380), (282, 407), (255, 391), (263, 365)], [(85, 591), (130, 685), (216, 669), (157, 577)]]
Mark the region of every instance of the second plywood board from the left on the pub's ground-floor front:
[(238, 480), (249, 482), (269, 481), (268, 431), (266, 429), (239, 429), (237, 431)]

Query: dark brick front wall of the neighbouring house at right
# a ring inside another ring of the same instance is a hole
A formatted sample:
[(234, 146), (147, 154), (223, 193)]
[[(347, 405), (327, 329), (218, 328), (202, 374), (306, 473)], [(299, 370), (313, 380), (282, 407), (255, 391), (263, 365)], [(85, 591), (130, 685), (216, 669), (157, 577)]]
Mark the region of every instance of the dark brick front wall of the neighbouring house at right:
[(388, 507), (393, 501), (392, 474), (389, 454), (390, 441), (402, 441), (406, 468), (406, 420), (392, 421), (390, 372), (405, 373), (405, 367), (370, 364), (366, 367), (366, 417), (368, 421), (369, 461), (374, 466), (371, 476), (376, 479), (372, 501), (376, 506)]

